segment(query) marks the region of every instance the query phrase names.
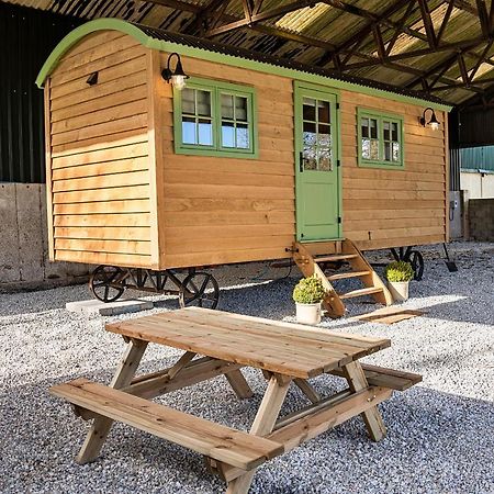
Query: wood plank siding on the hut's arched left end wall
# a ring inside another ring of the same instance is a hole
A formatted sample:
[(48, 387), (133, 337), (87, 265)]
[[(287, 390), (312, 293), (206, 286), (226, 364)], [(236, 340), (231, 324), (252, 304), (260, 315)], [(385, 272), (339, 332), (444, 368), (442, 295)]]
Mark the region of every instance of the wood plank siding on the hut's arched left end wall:
[(94, 33), (64, 56), (50, 86), (53, 258), (149, 268), (145, 48)]

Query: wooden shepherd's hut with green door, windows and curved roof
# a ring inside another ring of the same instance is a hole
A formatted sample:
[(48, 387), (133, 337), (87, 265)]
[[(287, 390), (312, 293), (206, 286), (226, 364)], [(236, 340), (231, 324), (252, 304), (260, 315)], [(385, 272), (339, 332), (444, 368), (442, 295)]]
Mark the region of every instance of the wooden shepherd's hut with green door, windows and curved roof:
[(436, 100), (114, 19), (70, 33), (36, 82), (52, 260), (162, 271), (448, 239)]

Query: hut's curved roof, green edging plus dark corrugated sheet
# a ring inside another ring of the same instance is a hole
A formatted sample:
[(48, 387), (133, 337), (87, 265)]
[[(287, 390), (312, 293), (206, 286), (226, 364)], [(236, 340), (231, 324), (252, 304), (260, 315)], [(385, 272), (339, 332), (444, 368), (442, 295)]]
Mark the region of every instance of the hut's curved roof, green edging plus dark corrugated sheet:
[(177, 52), (180, 55), (202, 58), (217, 64), (244, 67), (250, 70), (276, 74), (297, 80), (330, 86), (335, 89), (346, 89), (364, 94), (386, 98), (393, 101), (406, 102), (416, 105), (433, 106), (436, 110), (450, 111), (451, 105), (440, 99), (425, 97), (417, 91), (404, 90), (353, 76), (338, 76), (328, 69), (312, 67), (296, 61), (277, 58), (236, 48), (210, 40), (170, 33), (155, 27), (122, 21), (120, 19), (98, 19), (76, 27), (55, 47), (43, 64), (36, 78), (36, 86), (42, 88), (46, 78), (57, 67), (60, 58), (81, 38), (97, 31), (120, 31), (133, 36), (146, 48), (161, 52)]

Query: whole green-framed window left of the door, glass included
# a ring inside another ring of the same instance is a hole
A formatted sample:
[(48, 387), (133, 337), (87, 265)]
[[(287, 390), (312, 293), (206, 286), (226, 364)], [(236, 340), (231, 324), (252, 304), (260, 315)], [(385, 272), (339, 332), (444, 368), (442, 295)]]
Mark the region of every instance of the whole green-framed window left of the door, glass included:
[(255, 89), (189, 79), (173, 90), (173, 138), (176, 154), (257, 158)]

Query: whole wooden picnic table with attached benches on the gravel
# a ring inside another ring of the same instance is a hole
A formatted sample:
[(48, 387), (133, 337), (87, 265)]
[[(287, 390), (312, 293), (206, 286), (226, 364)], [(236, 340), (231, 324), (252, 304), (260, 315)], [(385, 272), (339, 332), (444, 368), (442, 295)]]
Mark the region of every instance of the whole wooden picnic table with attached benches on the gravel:
[[(119, 420), (204, 454), (231, 494), (247, 493), (263, 462), (356, 415), (362, 416), (371, 439), (379, 441), (386, 430), (377, 405), (393, 390), (403, 391), (422, 379), (359, 362), (390, 347), (386, 338), (200, 307), (106, 324), (105, 329), (127, 343), (110, 385), (77, 379), (50, 389), (69, 401), (78, 416), (93, 420), (77, 461), (94, 460), (112, 423)], [(148, 344), (184, 353), (168, 369), (135, 377)], [(268, 381), (249, 433), (150, 401), (222, 374), (239, 398), (248, 398), (252, 391), (242, 373), (244, 367), (260, 369)], [(308, 380), (324, 373), (346, 379), (348, 389), (321, 396)], [(310, 403), (279, 417), (292, 383)]]

